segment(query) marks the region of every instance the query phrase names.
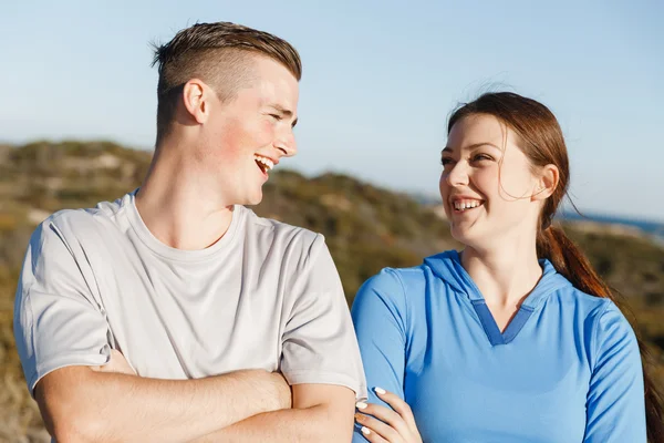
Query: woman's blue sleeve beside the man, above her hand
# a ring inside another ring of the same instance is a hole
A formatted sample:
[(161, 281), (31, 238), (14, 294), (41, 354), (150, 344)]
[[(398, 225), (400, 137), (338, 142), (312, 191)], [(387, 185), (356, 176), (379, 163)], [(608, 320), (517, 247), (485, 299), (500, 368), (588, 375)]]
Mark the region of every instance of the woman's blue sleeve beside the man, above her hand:
[[(376, 396), (376, 387), (404, 399), (406, 306), (396, 272), (383, 269), (369, 279), (360, 288), (351, 315), (366, 374), (369, 402), (386, 405)], [(366, 442), (357, 426), (353, 442)]]

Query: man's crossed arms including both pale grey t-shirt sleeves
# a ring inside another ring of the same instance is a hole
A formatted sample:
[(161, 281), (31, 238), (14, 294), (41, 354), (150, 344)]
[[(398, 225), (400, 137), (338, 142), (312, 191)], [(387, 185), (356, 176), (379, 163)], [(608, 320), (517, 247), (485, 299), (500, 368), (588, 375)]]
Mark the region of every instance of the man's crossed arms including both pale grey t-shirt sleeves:
[[(93, 269), (72, 253), (84, 255), (70, 222), (63, 216), (60, 226), (49, 222), (35, 230), (14, 310), (27, 379), (32, 385), (41, 377), (34, 395), (59, 442), (350, 442), (354, 393), (342, 385), (295, 384), (291, 396), (281, 374), (262, 370), (159, 380), (136, 377), (120, 353), (103, 367), (85, 365), (102, 361), (98, 350), (106, 344), (108, 324), (91, 292)], [(299, 254), (282, 365), (290, 372), (353, 372), (346, 369), (359, 369), (360, 356), (323, 238), (303, 243)], [(300, 351), (297, 358), (293, 349)], [(323, 359), (340, 350), (347, 351), (347, 362)], [(350, 379), (360, 384), (360, 373)]]

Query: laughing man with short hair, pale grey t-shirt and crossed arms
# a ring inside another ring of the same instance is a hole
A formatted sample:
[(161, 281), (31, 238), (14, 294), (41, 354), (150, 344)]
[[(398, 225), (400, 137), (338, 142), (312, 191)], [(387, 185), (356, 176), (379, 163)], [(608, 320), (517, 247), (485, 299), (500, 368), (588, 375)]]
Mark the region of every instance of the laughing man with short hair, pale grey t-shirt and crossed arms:
[(366, 388), (324, 240), (241, 206), (297, 152), (298, 53), (206, 23), (155, 63), (143, 185), (54, 214), (28, 248), (14, 334), (46, 427), (63, 442), (350, 441)]

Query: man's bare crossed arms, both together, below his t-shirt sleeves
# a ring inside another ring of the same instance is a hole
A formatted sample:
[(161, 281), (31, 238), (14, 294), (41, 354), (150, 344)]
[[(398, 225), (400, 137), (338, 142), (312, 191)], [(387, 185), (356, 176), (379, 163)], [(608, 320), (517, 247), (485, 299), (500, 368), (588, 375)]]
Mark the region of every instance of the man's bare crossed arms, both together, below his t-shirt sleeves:
[[(122, 358), (122, 357), (121, 357)], [(60, 442), (343, 442), (354, 394), (343, 387), (293, 385), (242, 370), (198, 380), (141, 378), (117, 369), (62, 368), (35, 399)], [(110, 364), (112, 365), (112, 364)]]

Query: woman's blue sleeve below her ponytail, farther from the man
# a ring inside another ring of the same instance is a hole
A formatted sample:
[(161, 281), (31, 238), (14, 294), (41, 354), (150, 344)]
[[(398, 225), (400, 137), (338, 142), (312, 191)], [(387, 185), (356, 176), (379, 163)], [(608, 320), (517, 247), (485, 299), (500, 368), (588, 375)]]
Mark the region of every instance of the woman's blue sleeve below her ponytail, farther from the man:
[(608, 301), (595, 329), (584, 443), (646, 442), (643, 369), (636, 337)]

